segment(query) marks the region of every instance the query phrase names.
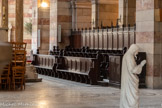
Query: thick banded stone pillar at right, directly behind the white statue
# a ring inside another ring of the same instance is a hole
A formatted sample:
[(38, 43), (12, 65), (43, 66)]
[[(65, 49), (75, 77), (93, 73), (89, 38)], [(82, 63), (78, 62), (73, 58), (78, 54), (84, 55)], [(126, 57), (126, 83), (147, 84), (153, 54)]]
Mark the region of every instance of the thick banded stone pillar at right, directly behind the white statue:
[[(162, 22), (155, 19), (155, 10), (161, 0), (136, 0), (136, 42), (147, 53), (146, 84), (162, 88)], [(158, 13), (159, 14), (159, 13)]]

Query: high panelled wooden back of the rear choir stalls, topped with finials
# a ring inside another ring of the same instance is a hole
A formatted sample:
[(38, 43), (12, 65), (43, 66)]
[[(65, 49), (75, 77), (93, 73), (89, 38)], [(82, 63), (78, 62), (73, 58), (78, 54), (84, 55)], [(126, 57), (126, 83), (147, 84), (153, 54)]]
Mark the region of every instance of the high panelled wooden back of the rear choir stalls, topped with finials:
[[(136, 27), (105, 28), (105, 29), (82, 29), (72, 32), (73, 43), (81, 36), (81, 47), (99, 50), (122, 50), (136, 43)], [(74, 36), (75, 35), (75, 36)], [(76, 39), (75, 39), (76, 38)]]

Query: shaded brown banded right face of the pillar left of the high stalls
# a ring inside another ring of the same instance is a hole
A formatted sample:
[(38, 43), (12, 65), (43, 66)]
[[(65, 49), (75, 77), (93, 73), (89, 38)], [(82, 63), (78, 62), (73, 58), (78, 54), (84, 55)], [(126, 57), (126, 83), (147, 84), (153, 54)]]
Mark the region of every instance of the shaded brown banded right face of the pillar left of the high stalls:
[[(60, 48), (65, 48), (70, 44), (69, 36), (72, 28), (71, 0), (57, 1), (57, 27), (61, 25), (61, 42), (58, 42)], [(57, 30), (58, 32), (58, 30)], [(57, 34), (58, 36), (58, 34)]]

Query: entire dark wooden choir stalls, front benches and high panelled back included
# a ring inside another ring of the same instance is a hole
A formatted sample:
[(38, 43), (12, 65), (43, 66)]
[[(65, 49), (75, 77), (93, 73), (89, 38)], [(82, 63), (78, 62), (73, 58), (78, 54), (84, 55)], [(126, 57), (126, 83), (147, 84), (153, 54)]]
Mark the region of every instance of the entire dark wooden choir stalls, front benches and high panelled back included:
[[(122, 57), (131, 44), (136, 43), (134, 27), (106, 27), (73, 30), (70, 45), (65, 49), (53, 47), (50, 55), (34, 54), (33, 64), (39, 74), (98, 84), (103, 79), (110, 86), (120, 87)], [(139, 53), (137, 64), (146, 58)], [(146, 67), (140, 77), (145, 87)]]

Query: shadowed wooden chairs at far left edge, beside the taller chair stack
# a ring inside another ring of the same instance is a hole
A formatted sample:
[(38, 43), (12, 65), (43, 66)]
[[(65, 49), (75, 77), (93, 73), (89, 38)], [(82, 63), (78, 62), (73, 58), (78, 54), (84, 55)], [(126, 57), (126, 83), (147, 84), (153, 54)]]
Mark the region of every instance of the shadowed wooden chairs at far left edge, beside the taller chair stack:
[(10, 90), (10, 64), (6, 65), (6, 67), (3, 69), (3, 74), (0, 76), (1, 78), (1, 87), (4, 85), (5, 89)]

